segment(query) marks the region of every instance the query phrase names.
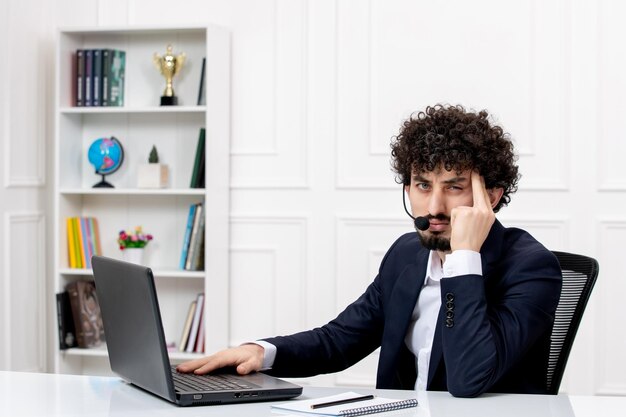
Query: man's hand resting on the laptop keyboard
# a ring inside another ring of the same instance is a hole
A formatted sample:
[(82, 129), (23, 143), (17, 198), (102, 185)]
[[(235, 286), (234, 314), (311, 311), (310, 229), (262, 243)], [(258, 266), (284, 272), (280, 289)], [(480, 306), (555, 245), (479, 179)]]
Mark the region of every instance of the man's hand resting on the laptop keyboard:
[(181, 363), (176, 367), (178, 372), (193, 372), (198, 375), (207, 374), (216, 369), (235, 366), (237, 373), (246, 375), (256, 372), (263, 366), (263, 347), (250, 343), (217, 352), (211, 356)]

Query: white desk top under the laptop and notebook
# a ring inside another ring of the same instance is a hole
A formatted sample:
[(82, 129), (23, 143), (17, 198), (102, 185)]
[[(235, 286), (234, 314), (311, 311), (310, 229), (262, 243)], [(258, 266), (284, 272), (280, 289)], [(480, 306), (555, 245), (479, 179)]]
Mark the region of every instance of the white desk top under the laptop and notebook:
[[(402, 417), (614, 417), (626, 415), (626, 397), (486, 394), (454, 398), (445, 392), (306, 387), (300, 399), (344, 391), (389, 398), (417, 395), (420, 406), (388, 413)], [(181, 408), (119, 378), (0, 372), (0, 416), (273, 416), (270, 403)], [(374, 414), (384, 416), (385, 414)]]

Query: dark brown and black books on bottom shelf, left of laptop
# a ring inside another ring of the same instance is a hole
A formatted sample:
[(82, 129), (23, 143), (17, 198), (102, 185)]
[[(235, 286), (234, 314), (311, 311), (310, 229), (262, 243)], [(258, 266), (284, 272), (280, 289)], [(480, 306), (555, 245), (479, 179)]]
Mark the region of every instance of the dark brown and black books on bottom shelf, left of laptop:
[(96, 287), (92, 281), (75, 281), (56, 295), (59, 348), (90, 348), (104, 342), (104, 325)]

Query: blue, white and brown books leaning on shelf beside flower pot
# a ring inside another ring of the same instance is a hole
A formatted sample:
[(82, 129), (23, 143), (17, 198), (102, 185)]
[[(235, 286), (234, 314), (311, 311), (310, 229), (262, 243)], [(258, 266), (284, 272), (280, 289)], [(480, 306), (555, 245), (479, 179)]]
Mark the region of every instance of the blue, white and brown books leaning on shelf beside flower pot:
[(180, 254), (180, 269), (202, 271), (204, 269), (204, 204), (189, 207), (187, 226)]

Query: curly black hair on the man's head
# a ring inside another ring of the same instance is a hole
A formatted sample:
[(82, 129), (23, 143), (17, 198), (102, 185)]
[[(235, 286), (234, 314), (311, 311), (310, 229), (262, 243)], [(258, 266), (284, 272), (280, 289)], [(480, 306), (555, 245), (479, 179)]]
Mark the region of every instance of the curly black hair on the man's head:
[(487, 189), (504, 193), (497, 212), (511, 201), (520, 178), (509, 134), (492, 125), (487, 111), (437, 104), (412, 115), (391, 141), (392, 168), (398, 183), (409, 185), (412, 172), (477, 170)]

